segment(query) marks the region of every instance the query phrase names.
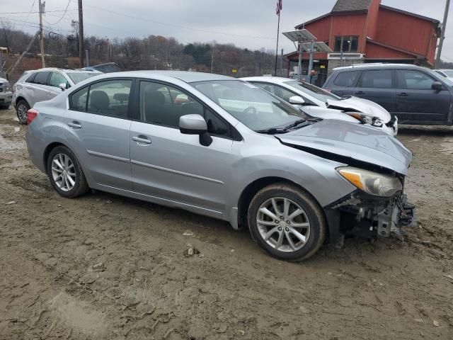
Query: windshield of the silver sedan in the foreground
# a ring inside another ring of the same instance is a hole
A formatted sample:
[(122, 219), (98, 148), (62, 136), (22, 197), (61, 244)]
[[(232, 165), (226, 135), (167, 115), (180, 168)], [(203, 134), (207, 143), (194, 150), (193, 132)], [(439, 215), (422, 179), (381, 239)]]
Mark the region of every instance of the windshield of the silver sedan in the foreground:
[(309, 118), (267, 91), (244, 81), (199, 81), (190, 85), (255, 131), (286, 128)]

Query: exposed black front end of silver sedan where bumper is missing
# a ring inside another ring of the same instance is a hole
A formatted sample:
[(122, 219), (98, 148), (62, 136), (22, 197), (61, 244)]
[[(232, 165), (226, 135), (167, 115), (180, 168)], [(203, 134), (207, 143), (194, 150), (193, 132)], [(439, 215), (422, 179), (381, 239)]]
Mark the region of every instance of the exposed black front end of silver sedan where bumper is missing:
[(415, 207), (403, 193), (380, 198), (355, 191), (324, 211), (331, 243), (336, 246), (343, 245), (345, 236), (401, 238), (401, 228), (415, 222)]

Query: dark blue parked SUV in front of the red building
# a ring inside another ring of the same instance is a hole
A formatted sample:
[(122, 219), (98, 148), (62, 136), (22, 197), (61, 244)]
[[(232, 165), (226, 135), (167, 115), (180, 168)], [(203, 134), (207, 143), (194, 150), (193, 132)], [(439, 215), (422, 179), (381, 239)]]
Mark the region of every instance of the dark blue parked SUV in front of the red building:
[(361, 64), (333, 69), (324, 89), (386, 108), (400, 124), (452, 125), (453, 81), (410, 64)]

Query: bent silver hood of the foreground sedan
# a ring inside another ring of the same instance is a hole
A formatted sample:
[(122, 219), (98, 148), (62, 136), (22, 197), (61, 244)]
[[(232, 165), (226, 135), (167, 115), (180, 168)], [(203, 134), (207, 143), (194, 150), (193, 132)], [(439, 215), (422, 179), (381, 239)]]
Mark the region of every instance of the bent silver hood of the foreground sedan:
[(341, 120), (322, 120), (276, 137), (285, 144), (302, 147), (307, 152), (328, 152), (345, 159), (346, 163), (348, 159), (353, 159), (403, 175), (408, 173), (412, 160), (412, 153), (396, 138), (366, 125)]

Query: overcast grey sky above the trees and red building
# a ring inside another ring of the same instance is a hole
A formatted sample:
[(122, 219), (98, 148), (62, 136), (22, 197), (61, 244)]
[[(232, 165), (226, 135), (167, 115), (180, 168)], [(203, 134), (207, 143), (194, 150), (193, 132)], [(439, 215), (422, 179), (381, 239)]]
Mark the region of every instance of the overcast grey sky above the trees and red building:
[[(0, 1), (0, 18), (15, 23), (18, 29), (30, 33), (36, 30), (38, 13), (33, 12), (38, 11), (38, 0)], [(265, 47), (275, 50), (276, 2), (277, 0), (84, 0), (85, 34), (108, 38), (143, 38), (154, 34), (171, 36), (184, 43), (215, 40), (233, 42), (237, 46), (251, 49)], [(297, 24), (328, 13), (335, 2), (336, 0), (283, 0), (280, 32), (294, 30)], [(33, 11), (28, 16), (32, 4)], [(47, 30), (68, 33), (71, 19), (78, 19), (77, 0), (70, 1), (68, 11), (62, 18), (67, 4), (67, 0), (46, 1), (44, 23)], [(382, 4), (440, 21), (445, 9), (445, 0), (382, 0)], [(450, 34), (453, 33), (452, 13), (450, 16), (442, 59), (453, 62), (453, 34)], [(279, 50), (280, 48), (284, 48), (285, 53), (292, 52), (294, 45), (280, 35)]]

